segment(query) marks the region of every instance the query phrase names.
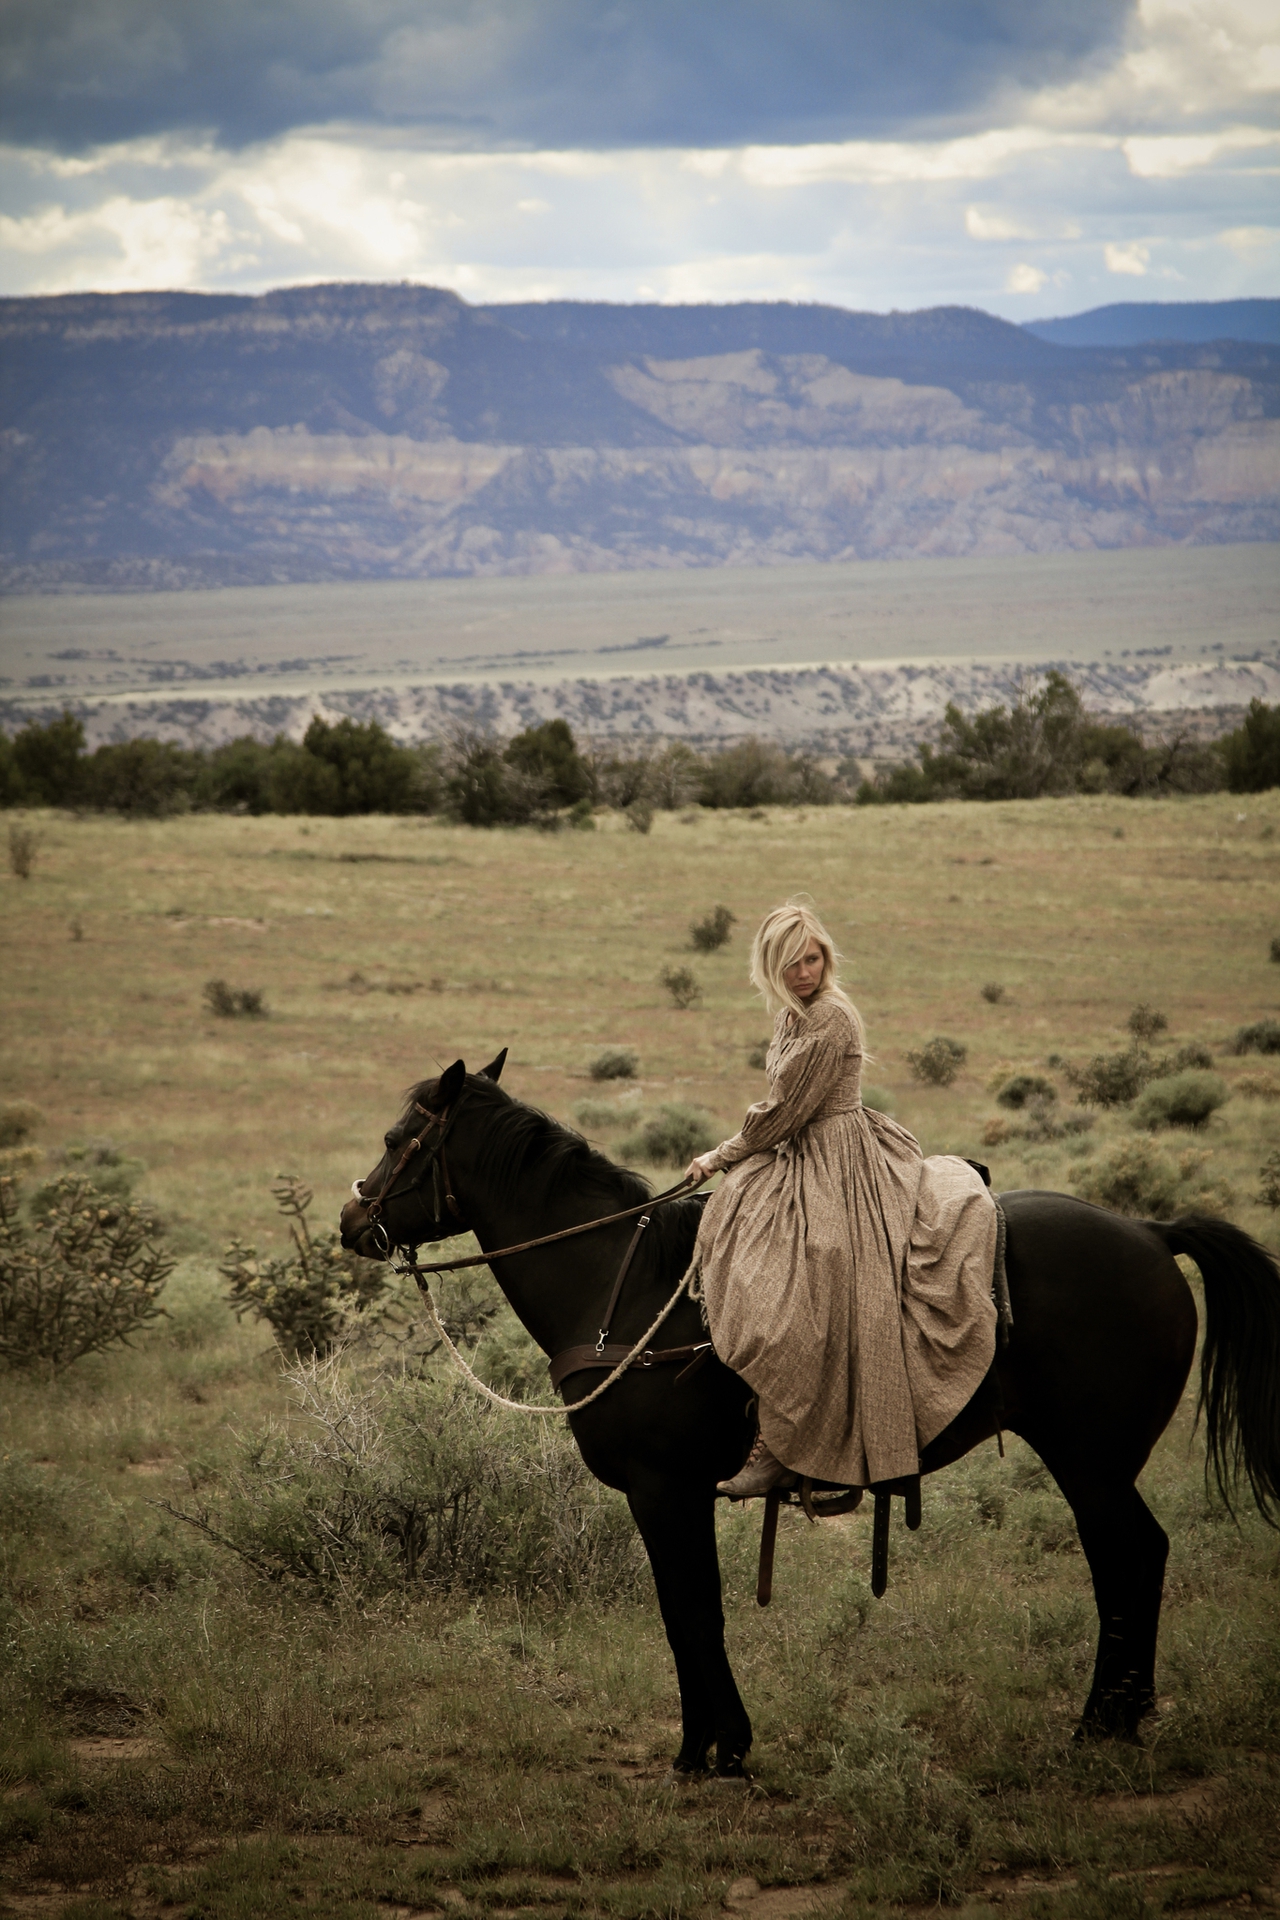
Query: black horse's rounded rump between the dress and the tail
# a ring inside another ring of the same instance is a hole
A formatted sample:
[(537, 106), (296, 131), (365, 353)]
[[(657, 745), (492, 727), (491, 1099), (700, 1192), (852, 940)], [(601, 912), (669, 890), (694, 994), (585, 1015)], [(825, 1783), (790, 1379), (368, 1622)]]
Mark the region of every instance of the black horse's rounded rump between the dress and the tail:
[(1071, 1194), (1000, 1194), (1013, 1334), (1009, 1427), (1086, 1473), (1138, 1473), (1196, 1352), (1196, 1300), (1153, 1225)]

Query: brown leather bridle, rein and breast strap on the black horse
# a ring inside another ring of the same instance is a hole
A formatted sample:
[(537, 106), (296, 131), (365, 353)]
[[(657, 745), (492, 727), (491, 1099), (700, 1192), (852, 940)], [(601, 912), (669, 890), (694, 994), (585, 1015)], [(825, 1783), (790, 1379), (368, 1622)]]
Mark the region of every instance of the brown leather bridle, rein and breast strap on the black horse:
[[(453, 1117), (455, 1117), (455, 1112), (457, 1112), (457, 1102), (451, 1108), (447, 1106), (441, 1114), (432, 1114), (430, 1108), (420, 1106), (416, 1100), (413, 1102), (413, 1108), (415, 1108), (415, 1114), (422, 1114), (424, 1116), (424, 1119), (428, 1121), (430, 1129), (439, 1129), (439, 1142), (436, 1146), (436, 1152), (428, 1160), (428, 1164), (418, 1173), (418, 1177), (409, 1183), (409, 1188), (401, 1188), (401, 1192), (413, 1192), (415, 1198), (418, 1200), (418, 1206), (422, 1206), (422, 1210), (426, 1212), (426, 1206), (424, 1206), (424, 1202), (420, 1198), (420, 1187), (422, 1187), (422, 1181), (426, 1179), (426, 1175), (430, 1171), (432, 1177), (434, 1177), (434, 1181), (436, 1181), (438, 1192), (443, 1194), (445, 1206), (449, 1208), (449, 1212), (453, 1213), (455, 1221), (459, 1223), (459, 1231), (461, 1233), (468, 1233), (470, 1229), (462, 1221), (462, 1210), (461, 1210), (461, 1206), (457, 1202), (457, 1196), (453, 1192), (453, 1181), (449, 1179), (449, 1162), (445, 1160), (445, 1140), (449, 1137), (449, 1129), (453, 1127)], [(405, 1146), (401, 1148), (399, 1160), (395, 1162), (395, 1165), (391, 1167), (391, 1171), (388, 1173), (386, 1181), (382, 1183), (382, 1187), (380, 1187), (380, 1190), (376, 1194), (365, 1196), (365, 1192), (361, 1190), (361, 1183), (359, 1181), (355, 1181), (353, 1188), (351, 1188), (357, 1194), (359, 1200), (365, 1200), (365, 1206), (368, 1208), (368, 1223), (370, 1223), (370, 1227), (374, 1231), (374, 1236), (378, 1236), (380, 1242), (382, 1242), (380, 1250), (382, 1250), (382, 1256), (386, 1260), (391, 1258), (393, 1244), (391, 1244), (391, 1240), (388, 1236), (388, 1231), (386, 1231), (386, 1227), (382, 1225), (382, 1219), (380, 1219), (382, 1206), (384, 1206), (386, 1200), (399, 1198), (397, 1194), (391, 1192), (391, 1188), (395, 1187), (397, 1179), (401, 1177), (401, 1173), (405, 1171), (405, 1167), (409, 1165), (409, 1162), (415, 1158), (415, 1154), (422, 1152), (422, 1148), (426, 1144), (428, 1125), (418, 1127), (418, 1133), (415, 1137), (411, 1137), (409, 1140), (405, 1140)], [(649, 1219), (651, 1219), (652, 1208), (666, 1206), (672, 1200), (687, 1198), (689, 1194), (697, 1192), (697, 1188), (702, 1187), (702, 1185), (704, 1185), (704, 1181), (695, 1181), (691, 1177), (685, 1177), (683, 1181), (677, 1181), (676, 1187), (668, 1187), (664, 1192), (654, 1194), (651, 1200), (641, 1200), (639, 1206), (622, 1208), (618, 1213), (604, 1213), (601, 1219), (585, 1219), (578, 1227), (562, 1227), (558, 1233), (543, 1233), (543, 1235), (539, 1235), (533, 1240), (518, 1240), (514, 1246), (501, 1246), (501, 1248), (495, 1248), (491, 1254), (464, 1254), (461, 1260), (436, 1260), (436, 1261), (430, 1261), (430, 1263), (418, 1263), (416, 1260), (413, 1260), (413, 1254), (416, 1254), (416, 1244), (413, 1244), (413, 1242), (399, 1242), (397, 1240), (395, 1246), (409, 1244), (411, 1258), (401, 1267), (391, 1267), (391, 1271), (393, 1273), (413, 1273), (413, 1277), (415, 1277), (420, 1292), (426, 1294), (428, 1304), (432, 1304), (432, 1294), (430, 1294), (430, 1286), (428, 1286), (428, 1277), (432, 1273), (457, 1273), (462, 1267), (487, 1267), (495, 1260), (509, 1260), (512, 1254), (528, 1254), (535, 1246), (555, 1246), (557, 1240), (572, 1240), (578, 1235), (595, 1233), (599, 1227), (614, 1227), (622, 1219), (637, 1219), (637, 1215), (639, 1215), (635, 1233), (631, 1235), (631, 1240), (628, 1242), (628, 1250), (622, 1256), (622, 1265), (618, 1267), (618, 1277), (616, 1277), (612, 1292), (608, 1296), (608, 1306), (604, 1309), (604, 1321), (601, 1325), (599, 1338), (597, 1338), (595, 1346), (570, 1346), (570, 1348), (564, 1348), (560, 1354), (557, 1354), (547, 1363), (547, 1371), (551, 1375), (551, 1384), (555, 1388), (558, 1388), (560, 1382), (566, 1380), (572, 1373), (585, 1373), (587, 1369), (591, 1369), (591, 1371), (604, 1369), (608, 1373), (614, 1373), (614, 1371), (626, 1371), (628, 1365), (631, 1365), (633, 1361), (639, 1361), (641, 1367), (645, 1371), (649, 1371), (649, 1367), (670, 1365), (674, 1361), (681, 1361), (683, 1359), (683, 1361), (687, 1361), (687, 1365), (681, 1367), (681, 1371), (676, 1377), (677, 1382), (679, 1382), (679, 1380), (685, 1379), (685, 1375), (689, 1375), (697, 1367), (700, 1367), (702, 1361), (710, 1356), (710, 1352), (712, 1352), (712, 1342), (710, 1340), (699, 1340), (699, 1342), (685, 1344), (685, 1346), (633, 1350), (633, 1348), (628, 1348), (628, 1346), (610, 1344), (610, 1340), (608, 1340), (608, 1329), (610, 1329), (614, 1311), (618, 1308), (618, 1300), (622, 1298), (622, 1286), (624, 1286), (626, 1277), (628, 1277), (628, 1273), (631, 1269), (631, 1261), (635, 1258), (635, 1250), (639, 1248), (643, 1233), (649, 1227)], [(439, 1217), (441, 1215), (438, 1212), (434, 1215), (434, 1223), (438, 1223)], [(677, 1288), (677, 1294), (683, 1290), (683, 1284), (685, 1283), (681, 1281), (681, 1286)], [(608, 1384), (608, 1382), (604, 1382), (604, 1384)]]

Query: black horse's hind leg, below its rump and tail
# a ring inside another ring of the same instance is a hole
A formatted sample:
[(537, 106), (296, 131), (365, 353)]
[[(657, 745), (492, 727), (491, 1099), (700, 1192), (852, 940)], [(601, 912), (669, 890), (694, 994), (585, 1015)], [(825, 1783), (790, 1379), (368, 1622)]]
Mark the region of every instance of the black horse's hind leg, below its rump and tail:
[(1057, 1476), (1080, 1530), (1098, 1601), (1098, 1659), (1077, 1740), (1136, 1740), (1155, 1705), (1155, 1638), (1169, 1536), (1136, 1486)]

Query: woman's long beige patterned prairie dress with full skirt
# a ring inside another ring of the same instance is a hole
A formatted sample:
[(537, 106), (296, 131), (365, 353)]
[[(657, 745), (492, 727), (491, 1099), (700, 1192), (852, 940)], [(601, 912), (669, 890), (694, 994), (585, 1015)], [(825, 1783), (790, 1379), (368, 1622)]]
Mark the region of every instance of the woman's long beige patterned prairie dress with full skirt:
[(770, 1096), (708, 1156), (695, 1267), (712, 1344), (794, 1473), (869, 1486), (973, 1396), (996, 1352), (996, 1208), (975, 1169), (862, 1104), (844, 1000), (779, 1014)]

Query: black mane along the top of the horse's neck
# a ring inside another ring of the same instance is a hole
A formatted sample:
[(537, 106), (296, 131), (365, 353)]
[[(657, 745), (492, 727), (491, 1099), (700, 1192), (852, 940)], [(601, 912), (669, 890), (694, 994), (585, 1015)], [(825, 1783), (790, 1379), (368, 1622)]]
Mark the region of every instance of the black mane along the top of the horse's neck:
[[(436, 1081), (420, 1081), (411, 1089), (409, 1098), (426, 1104), (426, 1094)], [(476, 1173), (499, 1188), (510, 1190), (516, 1181), (524, 1200), (543, 1208), (562, 1198), (566, 1192), (604, 1202), (604, 1212), (622, 1212), (641, 1206), (652, 1194), (652, 1187), (641, 1173), (620, 1167), (581, 1133), (574, 1133), (562, 1121), (543, 1114), (541, 1108), (526, 1106), (482, 1073), (466, 1075), (466, 1102), (480, 1102), (486, 1108), (486, 1123), (476, 1144)], [(702, 1202), (676, 1202), (658, 1208), (652, 1217), (654, 1227), (662, 1227), (658, 1240), (664, 1244), (689, 1240), (697, 1233), (697, 1217)]]

